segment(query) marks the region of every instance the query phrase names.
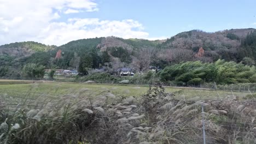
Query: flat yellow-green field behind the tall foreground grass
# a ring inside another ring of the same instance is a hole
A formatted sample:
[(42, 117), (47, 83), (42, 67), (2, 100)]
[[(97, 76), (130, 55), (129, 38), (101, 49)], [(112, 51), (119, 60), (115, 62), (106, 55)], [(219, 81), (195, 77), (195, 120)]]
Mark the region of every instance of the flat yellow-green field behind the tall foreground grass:
[[(86, 84), (86, 83), (65, 83), (65, 82), (34, 82), (34, 81), (13, 81), (0, 80), (9, 82), (8, 85), (0, 85), (0, 98), (7, 101), (10, 107), (20, 103), (29, 103), (37, 99), (57, 98), (60, 95), (79, 95), (81, 92), (90, 95), (99, 95), (103, 92), (110, 92), (121, 97), (140, 97), (145, 94), (148, 86), (135, 85), (103, 85), (103, 84)], [(22, 84), (15, 84), (22, 83)], [(34, 83), (33, 83), (34, 82)], [(193, 89), (193, 88), (172, 88), (166, 87), (166, 92), (172, 92), (179, 99), (222, 99), (225, 97), (243, 97), (248, 93), (231, 91), (214, 91), (210, 89)], [(233, 95), (234, 94), (234, 95)], [(23, 102), (24, 101), (24, 102)]]

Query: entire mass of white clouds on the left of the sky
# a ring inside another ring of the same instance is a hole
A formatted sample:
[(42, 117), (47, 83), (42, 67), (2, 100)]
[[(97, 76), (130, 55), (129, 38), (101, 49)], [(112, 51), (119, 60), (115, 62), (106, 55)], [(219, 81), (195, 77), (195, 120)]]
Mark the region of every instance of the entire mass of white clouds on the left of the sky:
[(62, 45), (71, 40), (111, 35), (150, 39), (135, 20), (61, 20), (65, 14), (97, 10), (93, 0), (0, 0), (0, 44), (32, 40)]

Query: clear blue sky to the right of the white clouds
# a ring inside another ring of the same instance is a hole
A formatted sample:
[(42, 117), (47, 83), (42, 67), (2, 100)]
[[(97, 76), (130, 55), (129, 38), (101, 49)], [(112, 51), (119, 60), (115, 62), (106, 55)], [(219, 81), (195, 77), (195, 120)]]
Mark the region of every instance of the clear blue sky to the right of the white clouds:
[[(137, 20), (152, 37), (171, 37), (182, 31), (215, 32), (255, 27), (256, 1), (99, 1), (90, 17)], [(83, 16), (83, 15), (82, 15)], [(89, 16), (89, 15), (86, 15)]]

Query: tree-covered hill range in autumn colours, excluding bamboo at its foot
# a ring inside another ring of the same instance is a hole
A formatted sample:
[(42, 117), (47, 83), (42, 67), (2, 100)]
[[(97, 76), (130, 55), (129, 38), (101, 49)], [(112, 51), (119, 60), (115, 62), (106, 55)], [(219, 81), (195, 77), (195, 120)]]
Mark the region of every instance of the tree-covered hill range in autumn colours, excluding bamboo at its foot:
[[(91, 38), (49, 46), (33, 41), (0, 46), (0, 76), (21, 76), (28, 63), (49, 69), (131, 67), (146, 70), (149, 65), (165, 68), (182, 61), (225, 61), (254, 64), (255, 29), (230, 29), (214, 33), (199, 30), (182, 32), (166, 40)], [(59, 57), (56, 53), (59, 51)]]

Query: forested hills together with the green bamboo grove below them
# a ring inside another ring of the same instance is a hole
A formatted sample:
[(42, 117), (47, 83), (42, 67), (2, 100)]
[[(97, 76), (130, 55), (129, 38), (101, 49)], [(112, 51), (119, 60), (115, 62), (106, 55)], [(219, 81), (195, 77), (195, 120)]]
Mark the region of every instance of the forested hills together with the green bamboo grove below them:
[[(130, 67), (146, 72), (153, 65), (163, 69), (159, 73), (162, 81), (254, 82), (254, 30), (230, 29), (214, 33), (193, 30), (154, 41), (106, 37), (74, 40), (61, 46), (33, 41), (5, 44), (0, 46), (0, 77), (42, 77), (42, 69), (77, 69), (82, 75), (96, 68), (114, 71)], [(230, 71), (230, 79), (220, 74), (222, 67)], [(241, 76), (243, 72), (249, 75)]]

